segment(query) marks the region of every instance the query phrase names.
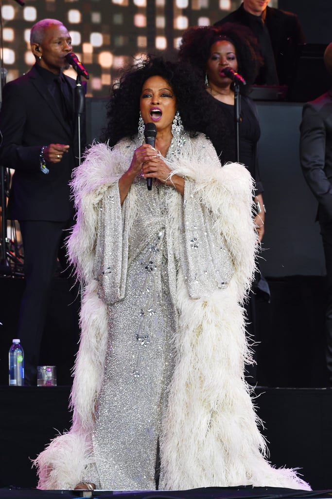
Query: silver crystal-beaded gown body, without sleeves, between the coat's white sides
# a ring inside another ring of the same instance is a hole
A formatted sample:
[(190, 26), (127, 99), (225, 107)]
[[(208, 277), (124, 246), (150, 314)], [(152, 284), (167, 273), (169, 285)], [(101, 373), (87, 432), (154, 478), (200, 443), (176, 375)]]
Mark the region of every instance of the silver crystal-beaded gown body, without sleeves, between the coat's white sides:
[[(158, 208), (158, 200), (163, 206), (167, 187), (161, 185), (151, 195), (141, 180), (135, 188), (144, 202), (137, 224), (128, 232), (130, 263), (124, 299), (109, 305), (109, 349), (93, 437), (103, 489), (153, 489), (157, 441), (162, 438), (161, 421), (174, 366), (167, 221)], [(151, 211), (156, 211), (154, 237), (143, 224)]]

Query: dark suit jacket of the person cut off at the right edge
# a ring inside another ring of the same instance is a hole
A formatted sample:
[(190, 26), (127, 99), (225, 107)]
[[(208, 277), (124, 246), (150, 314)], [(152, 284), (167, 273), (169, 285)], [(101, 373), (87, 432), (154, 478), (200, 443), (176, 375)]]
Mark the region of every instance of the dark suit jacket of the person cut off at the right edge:
[(304, 177), (319, 202), (317, 218), (332, 221), (332, 89), (303, 106), (300, 160)]

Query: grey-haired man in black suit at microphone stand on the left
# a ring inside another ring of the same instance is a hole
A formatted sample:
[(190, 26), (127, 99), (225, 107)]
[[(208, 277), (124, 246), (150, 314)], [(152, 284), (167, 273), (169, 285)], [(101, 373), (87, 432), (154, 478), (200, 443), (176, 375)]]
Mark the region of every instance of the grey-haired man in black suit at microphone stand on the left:
[(24, 248), (25, 290), (17, 337), (25, 354), (26, 384), (35, 383), (42, 360), (40, 345), (57, 258), (69, 270), (64, 249), (74, 217), (69, 182), (79, 157), (76, 82), (62, 72), (69, 68), (65, 56), (72, 50), (70, 34), (60, 21), (42, 19), (31, 28), (30, 45), (35, 65), (4, 86), (0, 112), (0, 163), (15, 170), (8, 218), (19, 221)]

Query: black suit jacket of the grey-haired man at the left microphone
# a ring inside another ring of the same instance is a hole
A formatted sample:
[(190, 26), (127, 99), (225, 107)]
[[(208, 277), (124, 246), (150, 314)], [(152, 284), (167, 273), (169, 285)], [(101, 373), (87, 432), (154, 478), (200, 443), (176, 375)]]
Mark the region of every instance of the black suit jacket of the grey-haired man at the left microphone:
[[(75, 80), (64, 75), (74, 98)], [(61, 110), (35, 66), (3, 87), (0, 163), (15, 170), (8, 201), (8, 218), (66, 221), (74, 214), (69, 181), (78, 161), (77, 120), (66, 123)], [(85, 146), (85, 115), (81, 121)], [(40, 171), (40, 150), (49, 144), (68, 144), (60, 163)]]

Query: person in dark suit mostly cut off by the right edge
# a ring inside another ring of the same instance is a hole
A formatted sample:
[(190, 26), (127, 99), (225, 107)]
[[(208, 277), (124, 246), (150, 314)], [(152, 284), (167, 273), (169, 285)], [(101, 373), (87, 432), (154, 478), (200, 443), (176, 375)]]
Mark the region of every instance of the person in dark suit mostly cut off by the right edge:
[[(332, 75), (332, 43), (324, 54)], [(327, 270), (326, 359), (332, 386), (332, 88), (303, 106), (300, 160), (304, 177), (316, 197)]]

